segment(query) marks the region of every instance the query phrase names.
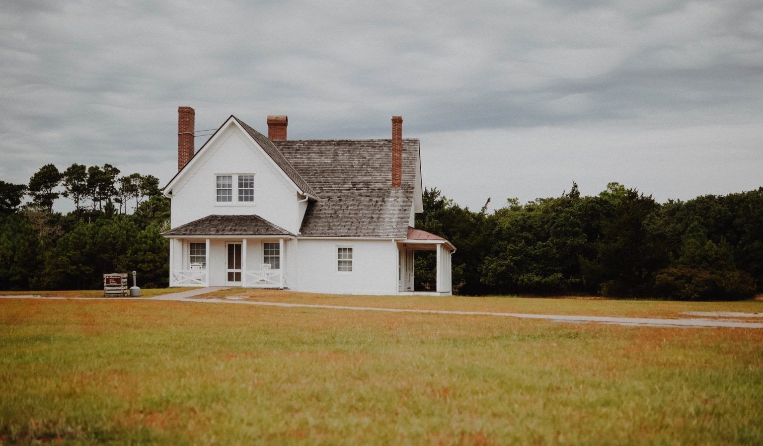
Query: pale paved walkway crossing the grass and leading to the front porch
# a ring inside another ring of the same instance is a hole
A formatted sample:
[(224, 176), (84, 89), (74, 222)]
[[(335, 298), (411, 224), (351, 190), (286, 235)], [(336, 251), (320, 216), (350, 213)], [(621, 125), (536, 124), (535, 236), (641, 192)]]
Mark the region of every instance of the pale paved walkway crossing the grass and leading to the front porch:
[[(619, 326), (650, 326), (650, 327), (725, 327), (738, 329), (763, 329), (761, 322), (739, 322), (728, 319), (657, 319), (641, 317), (612, 317), (612, 316), (570, 316), (555, 314), (530, 314), (530, 313), (496, 313), (488, 311), (455, 311), (455, 310), (417, 310), (410, 308), (377, 308), (372, 306), (340, 306), (340, 305), (314, 305), (310, 303), (282, 303), (282, 302), (258, 302), (256, 300), (233, 300), (233, 299), (194, 299), (195, 296), (211, 293), (218, 290), (227, 290), (228, 287), (206, 287), (198, 290), (188, 290), (179, 293), (163, 294), (156, 297), (73, 297), (79, 300), (175, 300), (178, 302), (195, 303), (227, 303), (239, 305), (279, 306), (285, 308), (318, 308), (327, 310), (353, 310), (353, 311), (381, 311), (386, 313), (427, 313), (446, 314), (459, 316), (502, 316), (519, 319), (545, 319), (555, 322), (586, 323), (598, 322)], [(41, 297), (41, 296), (0, 296), (3, 299), (66, 299), (66, 297)], [(696, 312), (699, 313), (699, 312)], [(693, 314), (696, 314), (693, 313)], [(702, 316), (718, 316), (716, 313), (700, 313)], [(721, 313), (723, 316), (737, 313)]]

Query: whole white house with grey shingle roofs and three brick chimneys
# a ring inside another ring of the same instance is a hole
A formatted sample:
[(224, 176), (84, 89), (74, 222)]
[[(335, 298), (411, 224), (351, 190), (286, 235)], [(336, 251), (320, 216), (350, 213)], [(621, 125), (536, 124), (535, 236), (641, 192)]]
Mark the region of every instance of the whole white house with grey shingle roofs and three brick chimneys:
[[(436, 291), (451, 294), (442, 237), (414, 229), (422, 212), (419, 140), (288, 140), (230, 116), (194, 151), (191, 107), (179, 107), (169, 284), (414, 294), (414, 253), (436, 251)], [(418, 294), (418, 293), (417, 293)]]

